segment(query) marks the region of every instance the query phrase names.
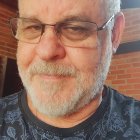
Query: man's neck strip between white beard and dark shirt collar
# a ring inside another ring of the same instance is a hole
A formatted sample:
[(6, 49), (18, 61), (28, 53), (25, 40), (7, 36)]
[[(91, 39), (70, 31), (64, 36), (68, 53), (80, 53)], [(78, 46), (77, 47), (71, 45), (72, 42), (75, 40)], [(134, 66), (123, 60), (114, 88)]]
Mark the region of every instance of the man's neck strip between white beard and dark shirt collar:
[(98, 96), (96, 98), (94, 98), (89, 104), (85, 105), (82, 109), (80, 109), (79, 111), (68, 115), (68, 116), (62, 116), (62, 117), (58, 117), (58, 118), (50, 118), (40, 112), (38, 112), (36, 110), (36, 108), (34, 108), (31, 100), (29, 97), (28, 98), (28, 106), (31, 110), (31, 112), (41, 121), (58, 127), (58, 128), (70, 128), (70, 127), (74, 127), (78, 124), (80, 124), (81, 122), (83, 122), (84, 120), (86, 120), (87, 118), (89, 118), (92, 114), (94, 114), (97, 110), (97, 108), (99, 107), (99, 105), (101, 104), (102, 101), (102, 92), (100, 94), (98, 94)]

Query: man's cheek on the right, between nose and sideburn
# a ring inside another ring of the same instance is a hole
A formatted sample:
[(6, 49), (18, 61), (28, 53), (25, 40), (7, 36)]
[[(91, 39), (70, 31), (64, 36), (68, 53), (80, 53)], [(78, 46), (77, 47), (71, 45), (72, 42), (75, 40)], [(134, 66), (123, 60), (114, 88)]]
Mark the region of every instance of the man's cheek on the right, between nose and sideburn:
[(71, 49), (68, 53), (71, 63), (82, 72), (93, 72), (99, 63), (96, 49)]

